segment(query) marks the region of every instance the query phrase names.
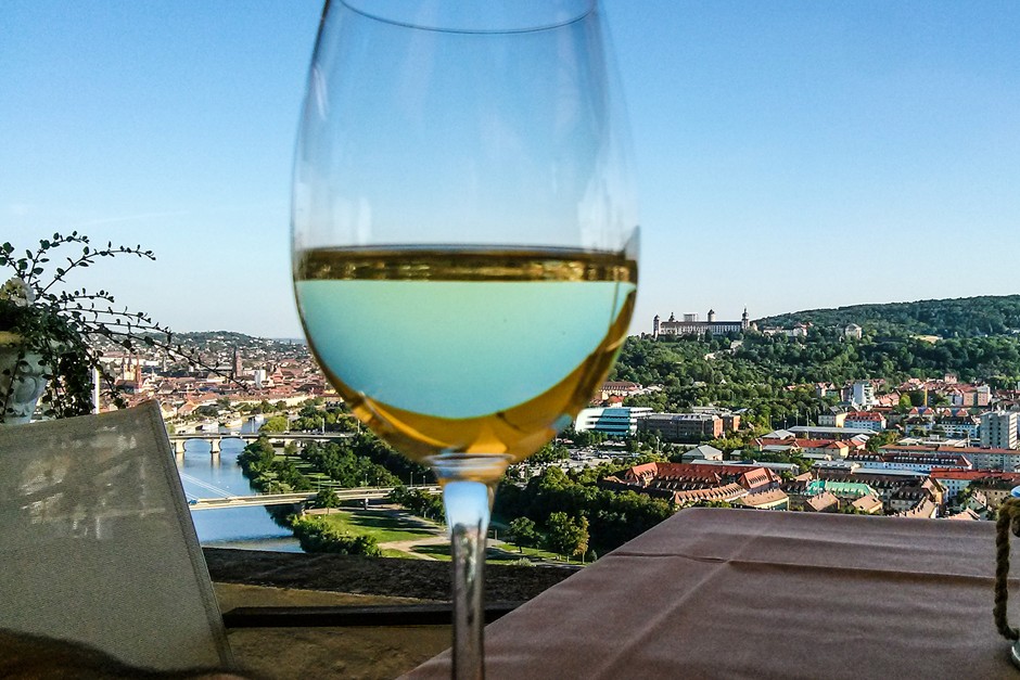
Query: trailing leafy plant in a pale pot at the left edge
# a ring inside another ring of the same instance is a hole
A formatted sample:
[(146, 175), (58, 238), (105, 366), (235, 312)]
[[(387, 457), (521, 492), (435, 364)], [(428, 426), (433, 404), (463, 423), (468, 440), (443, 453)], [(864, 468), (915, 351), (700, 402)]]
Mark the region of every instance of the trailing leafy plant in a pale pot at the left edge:
[[(58, 251), (74, 254), (51, 262)], [(0, 286), (0, 423), (28, 422), (37, 402), (47, 418), (91, 412), (93, 374), (106, 397), (123, 407), (100, 360), (102, 338), (128, 351), (154, 347), (201, 364), (194, 352), (171, 345), (169, 330), (148, 315), (115, 309), (109, 292), (64, 287), (73, 271), (116, 256), (155, 259), (141, 246), (93, 247), (78, 232), (55, 233), (24, 254), (10, 243), (0, 245), (0, 270), (11, 274)]]

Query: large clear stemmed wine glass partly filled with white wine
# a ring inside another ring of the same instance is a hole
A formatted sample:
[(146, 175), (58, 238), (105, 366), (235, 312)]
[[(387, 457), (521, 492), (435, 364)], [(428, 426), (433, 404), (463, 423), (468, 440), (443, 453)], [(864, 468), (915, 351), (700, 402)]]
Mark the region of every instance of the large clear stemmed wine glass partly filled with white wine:
[(293, 273), (354, 413), (443, 488), (454, 672), (481, 677), (482, 566), (511, 463), (605, 379), (637, 286), (597, 0), (333, 0), (308, 77)]

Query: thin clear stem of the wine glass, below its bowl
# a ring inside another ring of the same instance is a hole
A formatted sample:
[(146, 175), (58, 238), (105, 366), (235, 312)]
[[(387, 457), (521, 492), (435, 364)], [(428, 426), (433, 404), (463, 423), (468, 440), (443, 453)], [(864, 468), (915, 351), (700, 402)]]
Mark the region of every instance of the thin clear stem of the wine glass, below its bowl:
[(482, 569), (492, 498), (493, 489), (482, 482), (447, 482), (443, 487), (454, 561), (454, 678), (457, 680), (485, 677)]

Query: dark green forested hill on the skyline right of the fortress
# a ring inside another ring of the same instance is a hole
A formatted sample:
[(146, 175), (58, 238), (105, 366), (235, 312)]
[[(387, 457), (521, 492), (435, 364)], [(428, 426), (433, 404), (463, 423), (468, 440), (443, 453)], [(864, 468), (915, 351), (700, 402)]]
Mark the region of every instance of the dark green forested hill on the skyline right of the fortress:
[(758, 328), (811, 322), (820, 326), (856, 323), (879, 334), (976, 337), (1020, 329), (1020, 295), (983, 295), (885, 305), (807, 309), (757, 320)]

